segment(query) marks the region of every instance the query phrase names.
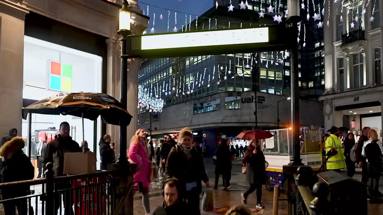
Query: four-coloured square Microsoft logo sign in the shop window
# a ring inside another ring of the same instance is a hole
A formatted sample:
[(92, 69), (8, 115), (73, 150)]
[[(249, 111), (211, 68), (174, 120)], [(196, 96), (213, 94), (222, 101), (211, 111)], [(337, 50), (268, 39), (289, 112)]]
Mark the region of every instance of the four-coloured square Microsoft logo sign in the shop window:
[(72, 65), (49, 60), (49, 90), (72, 92)]

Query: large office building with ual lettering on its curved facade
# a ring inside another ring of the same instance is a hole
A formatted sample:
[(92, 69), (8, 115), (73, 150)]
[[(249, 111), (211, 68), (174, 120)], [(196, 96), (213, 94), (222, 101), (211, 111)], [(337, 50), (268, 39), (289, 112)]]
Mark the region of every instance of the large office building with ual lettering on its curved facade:
[[(217, 18), (219, 29), (276, 24), (273, 14), (254, 19), (252, 14), (258, 11), (235, 8), (233, 12), (214, 6), (201, 16)], [(208, 26), (208, 19), (198, 20), (200, 25), (204, 22)], [(190, 127), (197, 140), (205, 133), (205, 140), (215, 145), (217, 139), (233, 137), (244, 129), (277, 128), (278, 118), (281, 128), (290, 126), (288, 50), (148, 59), (141, 63), (139, 83), (164, 99), (161, 113), (139, 110), (139, 127), (151, 129), (152, 138), (176, 135), (182, 127)], [(302, 112), (302, 125), (322, 125), (321, 102), (302, 100), (301, 106), (319, 112), (314, 117)]]

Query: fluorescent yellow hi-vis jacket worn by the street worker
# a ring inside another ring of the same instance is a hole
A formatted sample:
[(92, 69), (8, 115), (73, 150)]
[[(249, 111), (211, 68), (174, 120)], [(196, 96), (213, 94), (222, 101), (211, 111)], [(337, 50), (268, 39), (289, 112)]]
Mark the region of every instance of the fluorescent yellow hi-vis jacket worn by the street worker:
[(344, 154), (343, 154), (343, 147), (342, 143), (340, 143), (340, 140), (337, 136), (331, 134), (330, 137), (326, 140), (326, 154), (328, 151), (330, 151), (332, 148), (335, 148), (335, 150), (338, 151), (338, 153), (326, 162), (327, 169), (342, 169), (345, 168), (346, 165), (344, 163)]

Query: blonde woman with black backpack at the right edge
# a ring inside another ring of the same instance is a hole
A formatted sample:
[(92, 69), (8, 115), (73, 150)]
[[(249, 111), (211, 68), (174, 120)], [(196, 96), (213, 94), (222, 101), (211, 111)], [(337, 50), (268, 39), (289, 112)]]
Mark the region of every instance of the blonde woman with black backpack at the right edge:
[(362, 156), (367, 158), (368, 194), (370, 195), (370, 203), (378, 203), (383, 146), (374, 129), (368, 132), (367, 138), (368, 140), (363, 143)]

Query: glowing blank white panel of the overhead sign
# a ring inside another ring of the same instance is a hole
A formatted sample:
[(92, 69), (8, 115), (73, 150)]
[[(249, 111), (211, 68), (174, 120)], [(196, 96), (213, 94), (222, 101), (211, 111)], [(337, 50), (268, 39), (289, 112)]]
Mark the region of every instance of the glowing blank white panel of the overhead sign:
[(268, 41), (267, 27), (145, 35), (141, 37), (141, 50), (252, 44)]

